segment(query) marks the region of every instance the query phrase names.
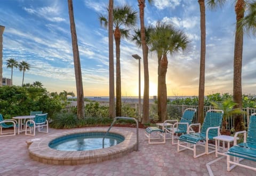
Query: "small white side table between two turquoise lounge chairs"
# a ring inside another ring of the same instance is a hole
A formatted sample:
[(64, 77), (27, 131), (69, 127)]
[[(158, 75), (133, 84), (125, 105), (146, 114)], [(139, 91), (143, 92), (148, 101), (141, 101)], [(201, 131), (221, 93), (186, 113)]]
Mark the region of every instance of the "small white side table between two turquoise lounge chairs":
[[(231, 137), (229, 135), (219, 135), (218, 137), (213, 137), (213, 139), (215, 140), (215, 156), (218, 157), (218, 154), (227, 156), (226, 151), (230, 148), (230, 142), (234, 141), (234, 137)], [(220, 149), (220, 141), (222, 141), (222, 153), (218, 151), (218, 149)], [(225, 150), (225, 142), (228, 143), (227, 150)]]

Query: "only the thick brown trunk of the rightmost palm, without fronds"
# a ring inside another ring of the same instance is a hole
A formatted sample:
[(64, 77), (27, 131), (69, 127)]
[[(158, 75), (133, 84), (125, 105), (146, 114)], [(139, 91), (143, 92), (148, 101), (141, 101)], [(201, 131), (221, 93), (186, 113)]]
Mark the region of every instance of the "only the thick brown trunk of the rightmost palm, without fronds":
[[(241, 23), (238, 21), (244, 18), (244, 0), (238, 0), (235, 5), (236, 12), (236, 34), (235, 34), (235, 49), (234, 49), (234, 78), (233, 78), (233, 95), (234, 102), (237, 103), (235, 108), (242, 109), (242, 58), (243, 58), (243, 30)], [(237, 115), (235, 117), (234, 126), (236, 131), (242, 131), (243, 116)]]

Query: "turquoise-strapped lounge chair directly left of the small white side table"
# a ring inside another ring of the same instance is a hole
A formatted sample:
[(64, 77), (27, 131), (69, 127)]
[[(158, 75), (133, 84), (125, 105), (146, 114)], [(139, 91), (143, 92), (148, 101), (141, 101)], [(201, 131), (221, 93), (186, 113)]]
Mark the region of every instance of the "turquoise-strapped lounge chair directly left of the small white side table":
[[(202, 155), (209, 155), (215, 152), (209, 151), (209, 140), (213, 140), (213, 137), (220, 135), (220, 126), (222, 123), (223, 110), (208, 110), (204, 118), (204, 123), (201, 130), (201, 124), (192, 124), (199, 126), (199, 132), (182, 134), (178, 139), (178, 152), (186, 149), (193, 150), (193, 157), (197, 158)], [(182, 145), (180, 141), (187, 143), (187, 146)], [(192, 146), (191, 146), (192, 145)], [(196, 155), (196, 146), (205, 147), (204, 153)], [(180, 149), (180, 147), (183, 147)], [(191, 148), (193, 147), (193, 148)]]

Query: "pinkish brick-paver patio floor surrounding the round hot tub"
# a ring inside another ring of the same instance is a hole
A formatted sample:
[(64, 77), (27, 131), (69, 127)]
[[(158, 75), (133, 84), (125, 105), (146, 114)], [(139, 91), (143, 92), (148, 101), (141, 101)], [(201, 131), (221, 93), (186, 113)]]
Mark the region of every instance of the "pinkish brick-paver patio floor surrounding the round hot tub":
[[(136, 131), (134, 128), (125, 128)], [(50, 129), (49, 133), (66, 130)], [(209, 175), (206, 163), (215, 159), (215, 155), (193, 158), (190, 150), (177, 152), (177, 146), (171, 141), (165, 144), (149, 145), (145, 140), (145, 130), (139, 130), (139, 151), (121, 158), (93, 164), (66, 166), (35, 162), (29, 158), (26, 141), (45, 138), (46, 133), (36, 133), (35, 137), (24, 133), (0, 138), (0, 175)], [(256, 162), (243, 161), (256, 167)], [(256, 175), (255, 171), (236, 167), (231, 172), (226, 170), (226, 158), (213, 163), (214, 175)]]

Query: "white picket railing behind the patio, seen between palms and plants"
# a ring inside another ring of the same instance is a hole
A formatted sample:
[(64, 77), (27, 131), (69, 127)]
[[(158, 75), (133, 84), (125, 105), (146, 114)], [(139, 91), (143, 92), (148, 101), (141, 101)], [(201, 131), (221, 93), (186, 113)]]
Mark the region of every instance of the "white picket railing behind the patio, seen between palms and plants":
[[(99, 102), (100, 105), (102, 106), (107, 106), (106, 102)], [(138, 112), (139, 112), (139, 103), (129, 103), (129, 102), (123, 102), (122, 103), (123, 107), (130, 107), (136, 109), (137, 112), (137, 117), (138, 117)], [(71, 108), (75, 107), (75, 105), (68, 105), (66, 106), (67, 111), (70, 111)], [(180, 119), (182, 117), (183, 111), (187, 108), (196, 108), (198, 109), (198, 106), (189, 106), (189, 105), (167, 105), (167, 118), (168, 119)], [(214, 107), (211, 106), (204, 106), (204, 114), (206, 113), (207, 110), (209, 109), (214, 109)], [(250, 115), (253, 113), (256, 113), (256, 108), (243, 108), (244, 111), (246, 111), (246, 114), (243, 115), (243, 122), (244, 126), (247, 127), (247, 122), (249, 122)], [(143, 112), (143, 104), (141, 103), (141, 116)], [(157, 120), (158, 115), (157, 115), (157, 104), (155, 103), (150, 103), (149, 104), (149, 118)], [(195, 114), (194, 118), (194, 123), (198, 122), (198, 115), (197, 111)], [(232, 116), (227, 117), (227, 125), (226, 129), (230, 130), (233, 127), (234, 124), (234, 118)]]

